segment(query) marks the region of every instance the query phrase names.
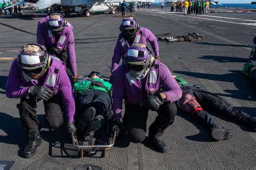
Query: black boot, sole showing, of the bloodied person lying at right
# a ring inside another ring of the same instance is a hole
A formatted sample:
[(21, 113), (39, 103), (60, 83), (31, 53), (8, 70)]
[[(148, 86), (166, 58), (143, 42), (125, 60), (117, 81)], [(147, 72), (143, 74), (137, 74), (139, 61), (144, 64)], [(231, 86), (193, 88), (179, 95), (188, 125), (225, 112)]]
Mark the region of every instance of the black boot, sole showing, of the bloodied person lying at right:
[(233, 131), (217, 125), (211, 128), (211, 135), (216, 140), (225, 140), (233, 137)]

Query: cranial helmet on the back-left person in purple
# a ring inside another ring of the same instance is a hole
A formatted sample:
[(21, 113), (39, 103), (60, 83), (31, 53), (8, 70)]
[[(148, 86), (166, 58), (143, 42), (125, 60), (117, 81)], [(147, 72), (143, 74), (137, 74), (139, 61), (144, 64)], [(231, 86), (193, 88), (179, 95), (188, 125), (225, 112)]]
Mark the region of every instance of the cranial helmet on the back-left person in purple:
[(62, 31), (66, 25), (66, 19), (59, 13), (52, 13), (47, 20), (47, 27), (52, 31)]

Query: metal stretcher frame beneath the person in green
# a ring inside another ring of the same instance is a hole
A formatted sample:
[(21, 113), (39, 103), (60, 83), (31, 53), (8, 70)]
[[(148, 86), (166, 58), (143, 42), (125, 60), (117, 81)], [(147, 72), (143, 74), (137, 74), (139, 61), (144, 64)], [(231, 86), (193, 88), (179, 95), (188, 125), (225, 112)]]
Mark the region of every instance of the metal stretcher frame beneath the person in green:
[[(82, 79), (83, 77), (86, 77), (86, 76), (79, 77), (79, 80)], [(106, 76), (103, 76), (103, 77), (106, 77)], [(106, 77), (106, 78), (109, 79), (109, 77)], [(109, 81), (109, 80), (104, 80), (104, 81)], [(75, 89), (73, 89), (73, 91), (75, 92)], [(112, 103), (111, 90), (109, 91), (108, 94), (110, 95), (111, 108), (112, 108), (113, 103)], [(79, 145), (76, 133), (72, 132), (71, 133), (72, 143), (73, 143), (73, 146), (75, 146), (77, 148), (80, 158), (84, 157), (84, 151), (103, 151), (103, 157), (105, 157), (106, 151), (109, 150), (114, 145), (114, 142), (116, 141), (117, 130), (114, 130), (113, 127), (112, 127), (112, 132), (111, 132), (110, 138), (108, 138), (109, 140), (107, 140), (107, 141), (109, 141), (109, 144), (107, 144), (107, 145)]]

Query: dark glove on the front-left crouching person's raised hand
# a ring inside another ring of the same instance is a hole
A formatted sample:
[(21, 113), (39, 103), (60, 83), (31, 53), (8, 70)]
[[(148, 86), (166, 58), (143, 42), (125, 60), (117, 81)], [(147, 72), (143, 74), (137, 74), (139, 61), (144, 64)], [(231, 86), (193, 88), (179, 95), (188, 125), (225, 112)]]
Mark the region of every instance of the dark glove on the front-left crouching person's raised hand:
[(41, 98), (44, 101), (48, 101), (51, 98), (51, 96), (53, 95), (53, 92), (48, 87), (44, 87), (44, 86), (31, 86), (29, 88), (28, 94), (36, 96), (38, 98)]

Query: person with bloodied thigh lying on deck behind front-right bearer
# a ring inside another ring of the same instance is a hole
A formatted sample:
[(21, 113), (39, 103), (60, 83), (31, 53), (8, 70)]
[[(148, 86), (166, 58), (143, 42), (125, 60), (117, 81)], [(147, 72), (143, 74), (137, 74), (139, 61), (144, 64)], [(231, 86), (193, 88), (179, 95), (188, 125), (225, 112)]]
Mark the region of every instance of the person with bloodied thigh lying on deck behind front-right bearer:
[(211, 136), (216, 140), (229, 139), (233, 132), (223, 128), (205, 109), (217, 111), (218, 114), (228, 117), (233, 121), (244, 123), (253, 132), (256, 132), (256, 117), (252, 117), (243, 111), (232, 107), (224, 98), (221, 98), (210, 91), (203, 89), (202, 86), (192, 86), (180, 76), (174, 76), (183, 92), (182, 97), (177, 102), (178, 107), (191, 114), (198, 122), (210, 129)]

